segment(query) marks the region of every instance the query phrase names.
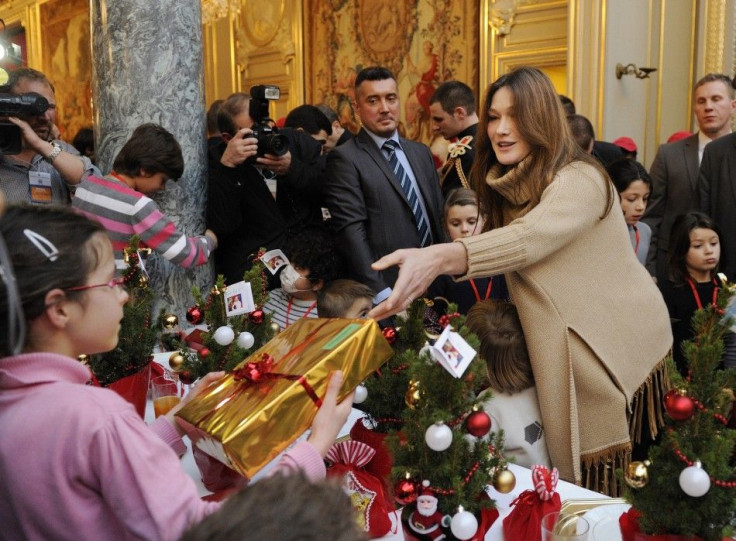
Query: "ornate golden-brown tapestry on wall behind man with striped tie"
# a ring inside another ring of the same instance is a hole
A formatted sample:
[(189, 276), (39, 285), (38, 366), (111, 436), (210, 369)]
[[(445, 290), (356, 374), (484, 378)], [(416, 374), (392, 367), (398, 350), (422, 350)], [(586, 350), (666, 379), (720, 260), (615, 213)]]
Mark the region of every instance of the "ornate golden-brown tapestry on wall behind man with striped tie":
[(364, 67), (396, 76), (399, 130), (431, 145), (429, 99), (440, 83), (459, 80), (478, 92), (478, 2), (474, 0), (308, 0), (305, 10), (307, 102), (335, 109), (360, 129), (353, 84)]

